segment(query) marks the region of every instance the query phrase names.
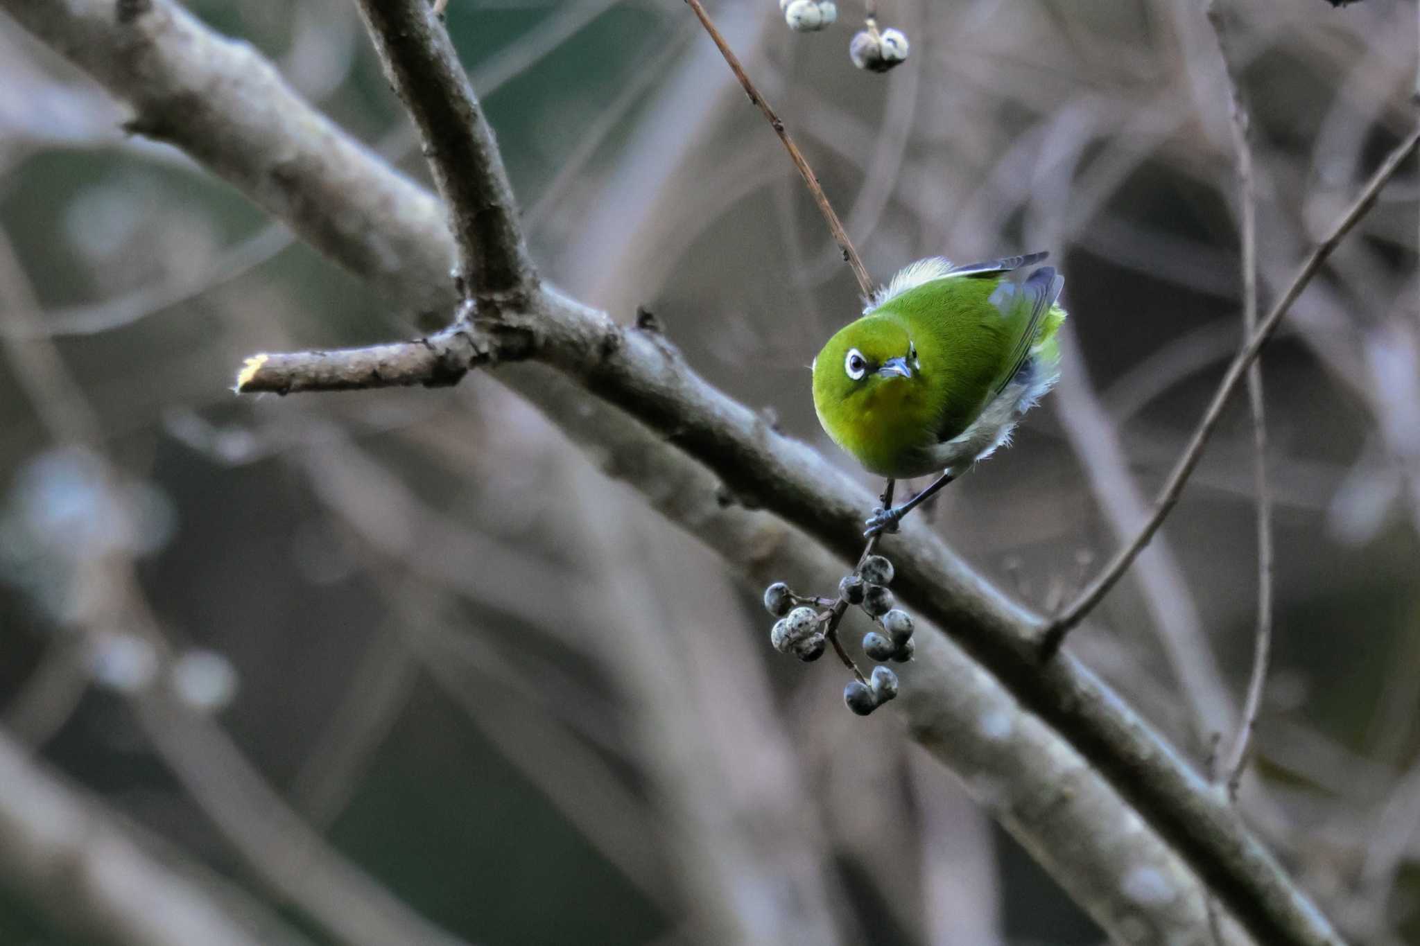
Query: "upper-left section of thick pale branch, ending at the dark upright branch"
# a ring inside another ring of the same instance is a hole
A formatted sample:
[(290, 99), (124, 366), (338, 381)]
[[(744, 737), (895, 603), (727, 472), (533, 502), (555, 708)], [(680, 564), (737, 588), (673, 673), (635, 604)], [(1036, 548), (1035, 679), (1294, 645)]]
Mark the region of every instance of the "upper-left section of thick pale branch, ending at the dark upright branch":
[[(310, 108), (248, 44), (160, 0), (3, 9), (116, 91), (133, 109), (131, 132), (183, 149), (413, 309), (447, 305), (454, 252), (437, 200)], [(368, 176), (371, 166), (383, 173)], [(345, 211), (327, 213), (337, 206)]]

